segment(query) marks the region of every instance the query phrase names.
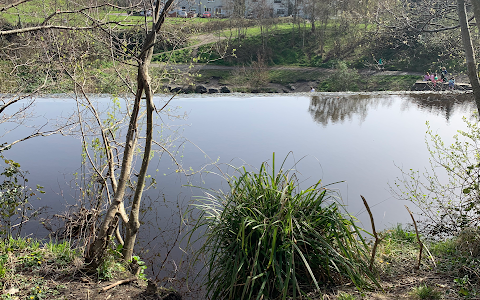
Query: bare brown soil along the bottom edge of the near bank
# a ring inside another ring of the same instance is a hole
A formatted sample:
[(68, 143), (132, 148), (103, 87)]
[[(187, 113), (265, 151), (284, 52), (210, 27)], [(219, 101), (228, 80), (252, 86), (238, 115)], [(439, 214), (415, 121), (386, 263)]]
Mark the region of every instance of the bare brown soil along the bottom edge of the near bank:
[[(20, 274), (19, 274), (20, 275)], [(24, 285), (13, 289), (6, 289), (3, 294), (12, 292), (11, 297), (7, 299), (77, 299), (77, 300), (177, 300), (182, 299), (178, 293), (174, 293), (166, 289), (152, 290), (152, 286), (147, 286), (143, 280), (135, 280), (126, 284), (120, 284), (106, 291), (103, 289), (109, 285), (116, 283), (117, 280), (97, 282), (92, 277), (77, 274), (77, 276), (69, 276), (65, 274), (60, 278), (58, 276), (39, 277), (38, 275), (21, 274), (24, 278)], [(414, 287), (427, 285), (434, 287), (443, 295), (442, 299), (465, 299), (459, 291), (460, 287), (456, 286), (454, 278), (441, 274), (432, 269), (421, 269), (415, 271), (413, 266), (402, 270), (401, 274), (387, 275), (381, 278), (382, 289), (377, 288), (374, 291), (358, 291), (352, 284), (337, 286), (322, 294), (312, 293), (309, 296), (312, 299), (338, 299), (341, 293), (348, 293), (355, 296), (355, 299), (415, 299), (411, 291)], [(41, 281), (41, 285), (36, 282)], [(41, 289), (37, 289), (41, 286)], [(36, 291), (36, 292), (35, 292)], [(43, 295), (42, 295), (43, 294)], [(38, 295), (38, 297), (36, 297)], [(196, 296), (183, 297), (183, 299), (203, 299), (197, 294)], [(479, 299), (470, 297), (469, 299)]]

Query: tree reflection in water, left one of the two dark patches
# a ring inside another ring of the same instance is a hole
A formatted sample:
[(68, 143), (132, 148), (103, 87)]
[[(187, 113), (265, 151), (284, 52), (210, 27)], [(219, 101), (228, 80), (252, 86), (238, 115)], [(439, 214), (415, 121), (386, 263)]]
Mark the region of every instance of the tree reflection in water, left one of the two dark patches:
[(390, 106), (392, 98), (378, 95), (312, 96), (308, 112), (315, 122), (327, 126), (329, 122), (342, 123), (354, 116), (359, 116), (363, 122), (368, 110), (380, 104)]

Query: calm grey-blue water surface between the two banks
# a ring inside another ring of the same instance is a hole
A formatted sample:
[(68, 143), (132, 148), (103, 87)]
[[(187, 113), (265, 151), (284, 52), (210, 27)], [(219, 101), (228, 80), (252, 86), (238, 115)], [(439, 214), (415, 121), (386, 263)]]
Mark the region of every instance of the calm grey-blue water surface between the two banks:
[[(165, 99), (158, 96), (157, 107)], [(97, 100), (100, 106), (110, 101), (108, 97)], [(453, 94), (198, 95), (178, 96), (171, 105), (176, 107), (172, 114), (188, 117), (176, 120), (162, 116), (158, 122), (175, 126), (171, 128), (180, 126), (181, 135), (188, 140), (177, 144), (185, 168), (199, 170), (217, 159), (224, 171), (232, 171), (226, 164), (258, 167), (271, 160), (273, 152), (278, 165), (291, 153), (285, 166), (297, 163), (302, 186), (308, 187), (319, 179), (324, 184), (341, 182), (332, 188), (340, 192), (349, 212), (367, 229), (369, 219), (360, 195), (372, 206), (378, 227), (409, 221), (403, 207), (408, 203), (394, 199), (389, 184), (400, 176), (397, 166), (420, 170), (428, 166), (425, 122), (429, 121), (435, 132), (451, 141), (456, 130), (464, 128), (462, 117), (471, 115), (474, 109), (469, 96)], [(74, 102), (58, 96), (43, 98), (35, 109), (41, 116), (35, 122), (42, 124), (60, 114), (68, 116)], [(11, 141), (29, 130), (17, 128), (3, 140)], [(72, 174), (81, 166), (80, 154), (78, 138), (60, 135), (32, 139), (5, 153), (30, 171), (32, 184), (45, 186), (47, 193), (41, 203), (51, 211), (74, 203), (77, 191), (70, 184)], [(148, 192), (151, 201), (165, 197), (167, 202), (188, 203), (192, 193), (201, 193), (182, 186), (189, 180), (174, 170), (168, 157), (163, 156), (162, 162), (154, 157), (150, 171), (157, 176), (158, 187)], [(217, 172), (213, 166), (204, 170)], [(214, 174), (192, 178), (206, 188), (226, 189), (225, 182)], [(162, 201), (158, 205), (165, 206)], [(149, 218), (155, 218), (160, 228), (176, 209), (163, 207)], [(46, 234), (37, 225), (30, 230)], [(150, 242), (148, 247), (155, 243)]]

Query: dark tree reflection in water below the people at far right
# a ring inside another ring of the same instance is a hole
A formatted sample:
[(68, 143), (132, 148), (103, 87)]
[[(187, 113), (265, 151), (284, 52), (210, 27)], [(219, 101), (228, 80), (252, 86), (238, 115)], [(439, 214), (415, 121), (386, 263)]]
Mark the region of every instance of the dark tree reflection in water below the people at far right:
[(454, 111), (471, 113), (476, 109), (475, 101), (471, 93), (468, 94), (409, 94), (405, 97), (407, 101), (402, 104), (402, 110), (415, 105), (423, 111), (432, 114), (444, 115), (448, 121)]

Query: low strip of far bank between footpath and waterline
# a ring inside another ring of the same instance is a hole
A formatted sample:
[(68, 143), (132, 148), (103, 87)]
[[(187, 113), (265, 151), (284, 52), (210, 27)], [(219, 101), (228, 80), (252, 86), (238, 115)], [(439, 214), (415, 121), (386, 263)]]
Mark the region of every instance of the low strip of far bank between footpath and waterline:
[[(77, 88), (92, 94), (125, 94), (135, 86), (133, 66), (121, 68), (110, 64), (92, 65), (85, 68), (82, 83)], [(265, 66), (253, 65), (218, 66), (209, 64), (160, 64), (151, 67), (152, 85), (156, 93), (298, 93), (309, 92), (377, 92), (410, 91), (423, 75), (416, 72), (380, 71), (348, 68), (339, 64), (337, 68)], [(456, 82), (468, 82), (464, 74), (454, 74)], [(38, 78), (36, 76), (39, 76)], [(11, 81), (0, 85), (4, 94), (40, 92), (44, 94), (71, 93), (75, 83), (61, 71), (45, 79), (40, 74), (31, 74), (25, 83)], [(8, 79), (8, 80), (7, 80)], [(39, 87), (38, 83), (43, 86)], [(222, 90), (223, 88), (223, 90)]]

